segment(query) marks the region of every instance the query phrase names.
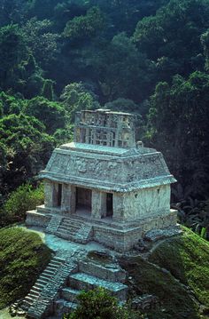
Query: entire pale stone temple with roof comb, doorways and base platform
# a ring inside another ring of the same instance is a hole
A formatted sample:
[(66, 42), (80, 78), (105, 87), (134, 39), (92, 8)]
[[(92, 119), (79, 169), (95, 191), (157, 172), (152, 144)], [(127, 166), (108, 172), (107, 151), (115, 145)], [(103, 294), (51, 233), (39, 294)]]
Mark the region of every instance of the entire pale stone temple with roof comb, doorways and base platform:
[(131, 114), (78, 112), (74, 142), (53, 151), (40, 177), (44, 205), (27, 212), (27, 225), (67, 240), (124, 252), (147, 231), (176, 224), (175, 179), (161, 153), (135, 142)]

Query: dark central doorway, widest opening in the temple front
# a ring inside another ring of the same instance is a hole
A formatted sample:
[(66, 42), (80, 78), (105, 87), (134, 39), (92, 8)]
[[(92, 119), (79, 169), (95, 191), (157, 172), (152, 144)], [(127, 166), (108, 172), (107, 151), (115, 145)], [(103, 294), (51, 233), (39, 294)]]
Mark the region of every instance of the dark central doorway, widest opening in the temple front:
[(91, 211), (91, 189), (76, 187), (76, 211)]

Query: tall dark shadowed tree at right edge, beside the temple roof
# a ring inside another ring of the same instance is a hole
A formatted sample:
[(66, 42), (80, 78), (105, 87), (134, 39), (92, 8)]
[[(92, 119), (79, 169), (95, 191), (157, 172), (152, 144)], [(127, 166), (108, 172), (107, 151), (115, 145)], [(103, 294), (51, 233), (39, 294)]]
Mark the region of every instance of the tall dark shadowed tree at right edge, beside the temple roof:
[(194, 72), (186, 80), (159, 83), (151, 97), (147, 139), (163, 151), (182, 186), (206, 195), (209, 185), (209, 76)]

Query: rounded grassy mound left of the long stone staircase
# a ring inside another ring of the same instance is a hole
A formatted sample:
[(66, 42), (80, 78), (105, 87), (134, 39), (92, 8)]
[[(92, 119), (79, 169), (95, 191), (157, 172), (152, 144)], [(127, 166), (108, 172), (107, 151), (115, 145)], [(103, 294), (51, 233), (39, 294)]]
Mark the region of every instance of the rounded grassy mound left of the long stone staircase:
[(50, 249), (39, 235), (0, 229), (0, 309), (23, 298), (49, 261)]

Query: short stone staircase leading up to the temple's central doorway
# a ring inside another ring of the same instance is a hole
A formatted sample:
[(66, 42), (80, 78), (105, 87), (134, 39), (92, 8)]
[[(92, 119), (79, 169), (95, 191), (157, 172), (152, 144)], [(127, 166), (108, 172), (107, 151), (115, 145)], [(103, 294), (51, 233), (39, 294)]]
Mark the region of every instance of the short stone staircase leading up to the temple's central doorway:
[(93, 227), (75, 219), (62, 219), (54, 235), (75, 243), (89, 243), (92, 239)]

